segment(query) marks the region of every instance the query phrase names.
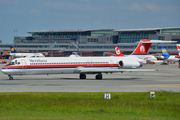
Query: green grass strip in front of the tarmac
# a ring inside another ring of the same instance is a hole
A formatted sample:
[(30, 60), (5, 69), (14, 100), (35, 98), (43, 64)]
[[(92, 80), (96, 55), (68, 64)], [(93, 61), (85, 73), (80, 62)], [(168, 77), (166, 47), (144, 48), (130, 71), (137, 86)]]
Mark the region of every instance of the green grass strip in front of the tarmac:
[(0, 93), (0, 119), (180, 119), (180, 93)]

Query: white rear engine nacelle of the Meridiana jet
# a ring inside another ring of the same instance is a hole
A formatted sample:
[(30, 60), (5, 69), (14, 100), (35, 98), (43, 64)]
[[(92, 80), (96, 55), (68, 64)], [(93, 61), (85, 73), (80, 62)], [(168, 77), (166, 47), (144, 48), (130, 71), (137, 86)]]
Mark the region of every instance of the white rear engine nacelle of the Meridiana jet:
[(143, 63), (139, 63), (138, 61), (119, 61), (120, 68), (132, 69), (142, 67)]

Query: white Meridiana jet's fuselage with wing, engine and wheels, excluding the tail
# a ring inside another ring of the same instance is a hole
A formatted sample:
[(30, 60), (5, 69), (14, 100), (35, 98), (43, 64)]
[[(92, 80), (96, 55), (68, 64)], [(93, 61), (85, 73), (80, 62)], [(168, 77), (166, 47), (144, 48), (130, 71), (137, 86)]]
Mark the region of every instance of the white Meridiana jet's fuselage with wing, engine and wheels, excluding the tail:
[(155, 71), (155, 69), (136, 69), (143, 63), (137, 57), (44, 57), (16, 58), (4, 66), (1, 71), (7, 74), (9, 80), (13, 75), (38, 74), (79, 74), (80, 79), (86, 79), (86, 74), (97, 74), (96, 79), (102, 79), (102, 73), (126, 71)]

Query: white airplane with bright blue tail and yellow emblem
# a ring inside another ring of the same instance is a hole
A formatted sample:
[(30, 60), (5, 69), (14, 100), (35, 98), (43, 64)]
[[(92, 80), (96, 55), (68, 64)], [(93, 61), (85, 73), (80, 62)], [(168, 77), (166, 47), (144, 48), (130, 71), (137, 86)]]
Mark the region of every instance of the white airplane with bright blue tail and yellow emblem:
[(169, 55), (169, 53), (166, 51), (166, 49), (161, 46), (162, 49), (162, 54), (163, 56), (161, 56), (161, 59), (164, 59), (164, 63), (169, 60), (169, 61), (173, 61), (173, 62), (180, 62), (180, 60), (176, 57), (176, 55)]

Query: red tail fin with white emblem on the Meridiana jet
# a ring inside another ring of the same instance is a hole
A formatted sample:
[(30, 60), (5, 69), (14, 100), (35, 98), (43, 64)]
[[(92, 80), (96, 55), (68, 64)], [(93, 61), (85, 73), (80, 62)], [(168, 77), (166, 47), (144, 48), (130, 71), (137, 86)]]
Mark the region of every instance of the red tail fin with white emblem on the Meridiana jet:
[[(141, 39), (136, 49), (133, 51), (132, 55), (146, 55), (149, 48), (151, 47), (151, 40)], [(147, 43), (143, 43), (147, 42)]]

